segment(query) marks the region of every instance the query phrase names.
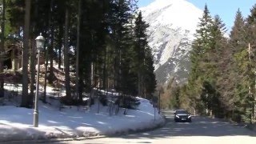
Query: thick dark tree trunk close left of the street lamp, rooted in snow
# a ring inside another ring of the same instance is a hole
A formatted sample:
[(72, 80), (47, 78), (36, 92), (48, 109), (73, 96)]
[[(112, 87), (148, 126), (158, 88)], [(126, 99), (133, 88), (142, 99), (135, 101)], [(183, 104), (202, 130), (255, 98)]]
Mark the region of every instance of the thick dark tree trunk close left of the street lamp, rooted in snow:
[(26, 0), (25, 26), (23, 39), (23, 56), (22, 56), (22, 107), (30, 107), (28, 97), (28, 50), (29, 50), (29, 35), (30, 35), (30, 7), (31, 0)]

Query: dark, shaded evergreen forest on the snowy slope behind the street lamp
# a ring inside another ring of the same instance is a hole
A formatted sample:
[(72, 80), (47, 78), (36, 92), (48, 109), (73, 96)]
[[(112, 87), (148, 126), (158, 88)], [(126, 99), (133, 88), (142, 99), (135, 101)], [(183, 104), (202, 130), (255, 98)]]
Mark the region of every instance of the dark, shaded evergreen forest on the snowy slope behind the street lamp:
[(46, 39), (38, 78), (45, 86), (42, 102), (47, 102), (46, 86), (65, 89), (62, 102), (69, 105), (81, 104), (94, 88), (129, 95), (123, 103), (135, 96), (152, 98), (156, 80), (148, 24), (136, 0), (2, 0), (1, 16), (0, 91), (3, 95), (10, 81), (5, 78), (6, 51), (19, 47), (22, 54), (14, 59), (19, 58), (22, 69), (12, 67), (16, 77), (11, 82), (22, 83), (20, 106), (34, 106), (39, 34)]

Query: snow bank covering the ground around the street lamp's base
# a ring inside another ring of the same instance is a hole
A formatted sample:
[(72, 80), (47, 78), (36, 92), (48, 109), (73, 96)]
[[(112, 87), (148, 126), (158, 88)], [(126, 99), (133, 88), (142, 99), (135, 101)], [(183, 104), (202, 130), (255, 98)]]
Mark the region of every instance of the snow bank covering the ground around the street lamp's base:
[(90, 109), (65, 106), (59, 110), (58, 100), (48, 98), (38, 102), (39, 126), (33, 127), (34, 109), (0, 106), (0, 141), (75, 138), (95, 135), (126, 134), (130, 131), (154, 128), (164, 119), (146, 99), (139, 98), (138, 110), (124, 109), (110, 116), (108, 106), (95, 103)]

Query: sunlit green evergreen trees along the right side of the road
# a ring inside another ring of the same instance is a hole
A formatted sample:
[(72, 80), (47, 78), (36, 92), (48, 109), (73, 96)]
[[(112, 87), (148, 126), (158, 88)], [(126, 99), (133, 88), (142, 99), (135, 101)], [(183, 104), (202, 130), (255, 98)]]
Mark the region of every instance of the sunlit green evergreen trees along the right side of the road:
[[(212, 17), (207, 5), (198, 23), (190, 51), (190, 76), (185, 85), (172, 79), (162, 95), (166, 106), (192, 114), (226, 118), (233, 122), (256, 120), (256, 5), (243, 18), (238, 9), (227, 31), (222, 19)], [(166, 98), (166, 96), (165, 96)]]

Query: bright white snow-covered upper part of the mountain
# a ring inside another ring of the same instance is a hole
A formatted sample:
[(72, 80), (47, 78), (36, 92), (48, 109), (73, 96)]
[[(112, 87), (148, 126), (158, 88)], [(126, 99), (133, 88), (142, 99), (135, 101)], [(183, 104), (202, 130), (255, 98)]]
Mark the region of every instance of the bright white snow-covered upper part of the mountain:
[(166, 25), (191, 32), (196, 30), (198, 17), (202, 16), (202, 10), (186, 0), (155, 0), (140, 10), (151, 26)]

